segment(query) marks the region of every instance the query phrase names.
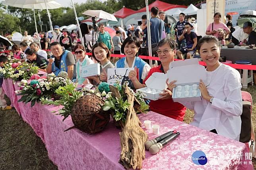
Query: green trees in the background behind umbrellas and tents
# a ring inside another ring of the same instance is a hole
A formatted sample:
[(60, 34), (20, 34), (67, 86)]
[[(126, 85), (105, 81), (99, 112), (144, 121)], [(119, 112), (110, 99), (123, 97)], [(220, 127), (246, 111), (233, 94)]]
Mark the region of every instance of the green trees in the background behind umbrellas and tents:
[[(190, 4), (198, 4), (201, 0), (161, 0), (163, 2), (167, 2), (169, 4), (178, 4), (178, 5), (190, 5)], [(131, 3), (132, 2), (132, 3)], [(149, 0), (149, 4), (154, 2), (154, 0)], [(82, 13), (86, 10), (103, 10), (108, 13), (114, 13), (118, 11), (120, 8), (125, 6), (126, 8), (130, 8), (132, 10), (139, 10), (145, 7), (145, 0), (107, 0), (102, 2), (100, 0), (87, 0), (82, 4), (75, 4), (76, 12), (78, 17), (85, 17)], [(39, 21), (38, 11), (36, 12), (37, 22)], [(73, 8), (59, 8), (55, 10), (49, 10), (51, 13), (52, 25), (70, 25), (76, 24), (75, 15)], [(49, 31), (48, 24), (48, 16), (47, 11), (42, 10), (41, 21), (44, 24), (47, 24), (47, 30)], [(27, 30), (29, 34), (33, 34), (35, 32), (35, 23), (33, 17), (33, 11), (30, 9), (22, 9), (15, 8), (11, 6), (5, 6), (0, 3), (0, 34), (5, 35), (7, 33), (11, 34), (13, 31), (19, 32), (19, 26), (21, 28), (21, 32)], [(46, 26), (43, 25), (43, 31), (46, 30)], [(40, 26), (37, 25), (38, 31), (41, 31)]]

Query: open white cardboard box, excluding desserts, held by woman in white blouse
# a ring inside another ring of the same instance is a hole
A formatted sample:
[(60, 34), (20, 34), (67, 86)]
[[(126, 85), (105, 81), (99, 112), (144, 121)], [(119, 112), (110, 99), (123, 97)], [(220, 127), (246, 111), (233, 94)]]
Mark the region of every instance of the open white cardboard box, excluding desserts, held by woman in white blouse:
[[(185, 86), (185, 85), (193, 85), (200, 84), (200, 79), (203, 81), (206, 80), (206, 69), (204, 66), (199, 65), (198, 59), (186, 59), (173, 61), (169, 65), (169, 71), (167, 71), (167, 78), (169, 78), (168, 82), (176, 80), (176, 86)], [(199, 94), (196, 97), (180, 97), (176, 98), (175, 96), (175, 88), (173, 89), (173, 101), (201, 101), (202, 96), (200, 90), (198, 90)]]

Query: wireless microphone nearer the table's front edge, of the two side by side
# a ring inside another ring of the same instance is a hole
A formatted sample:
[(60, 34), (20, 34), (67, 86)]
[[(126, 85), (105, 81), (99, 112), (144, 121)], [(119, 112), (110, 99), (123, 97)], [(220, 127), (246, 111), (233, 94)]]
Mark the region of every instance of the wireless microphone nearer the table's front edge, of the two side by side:
[(156, 143), (154, 145), (152, 145), (150, 148), (149, 148), (149, 152), (152, 154), (152, 155), (155, 155), (157, 153), (159, 153), (159, 151), (165, 147), (166, 145), (168, 145), (169, 143), (171, 143), (174, 139), (176, 139), (178, 136), (180, 135), (180, 132), (177, 132), (175, 134), (172, 134), (168, 137), (166, 137), (165, 139), (161, 140), (159, 143)]

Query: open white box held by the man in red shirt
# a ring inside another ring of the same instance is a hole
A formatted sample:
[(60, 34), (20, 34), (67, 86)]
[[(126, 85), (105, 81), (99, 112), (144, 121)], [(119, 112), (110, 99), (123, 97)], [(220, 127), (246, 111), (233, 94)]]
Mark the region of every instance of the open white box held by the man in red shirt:
[[(145, 84), (147, 87), (144, 88), (140, 88), (137, 89), (137, 91), (141, 91), (141, 90), (146, 90), (147, 88), (151, 88), (151, 89), (155, 89), (157, 90), (164, 90), (165, 88), (167, 88), (167, 84), (165, 83), (167, 77), (166, 74), (164, 73), (152, 73), (152, 75), (145, 81)], [(159, 97), (161, 97), (159, 94), (161, 92), (152, 94), (152, 93), (147, 93), (147, 92), (143, 92), (144, 94), (146, 94), (147, 96), (145, 96), (144, 98), (146, 99), (150, 99), (150, 100), (158, 100)]]

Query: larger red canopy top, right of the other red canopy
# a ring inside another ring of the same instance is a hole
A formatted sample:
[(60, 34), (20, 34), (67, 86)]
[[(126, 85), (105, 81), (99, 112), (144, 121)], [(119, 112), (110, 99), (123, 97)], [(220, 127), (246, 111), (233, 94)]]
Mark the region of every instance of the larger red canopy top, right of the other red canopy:
[[(188, 8), (187, 6), (184, 5), (174, 5), (174, 4), (168, 4), (159, 0), (156, 0), (155, 2), (153, 2), (152, 4), (149, 4), (148, 8), (149, 11), (152, 7), (157, 6), (159, 8), (159, 11), (167, 11), (170, 10), (172, 8)], [(145, 12), (146, 11), (146, 7), (136, 11), (135, 13), (139, 13), (139, 12)]]

